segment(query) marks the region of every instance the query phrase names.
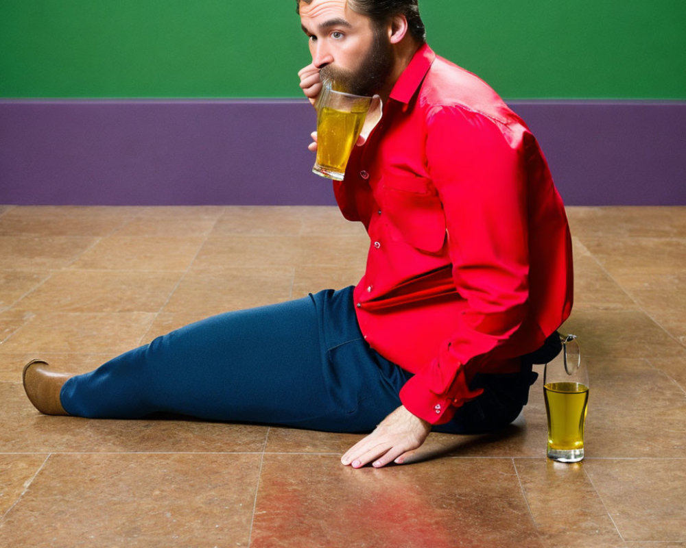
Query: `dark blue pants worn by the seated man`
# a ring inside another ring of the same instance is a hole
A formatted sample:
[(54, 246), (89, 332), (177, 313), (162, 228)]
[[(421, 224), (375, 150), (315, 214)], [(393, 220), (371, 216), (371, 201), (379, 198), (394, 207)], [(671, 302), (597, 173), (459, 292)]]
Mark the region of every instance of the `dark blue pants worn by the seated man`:
[[(484, 388), (440, 432), (489, 432), (526, 403), (531, 367), (476, 375)], [(401, 405), (412, 376), (370, 349), (359, 331), (353, 288), (226, 312), (176, 329), (69, 379), (69, 414), (133, 419), (155, 412), (212, 421), (370, 432)]]

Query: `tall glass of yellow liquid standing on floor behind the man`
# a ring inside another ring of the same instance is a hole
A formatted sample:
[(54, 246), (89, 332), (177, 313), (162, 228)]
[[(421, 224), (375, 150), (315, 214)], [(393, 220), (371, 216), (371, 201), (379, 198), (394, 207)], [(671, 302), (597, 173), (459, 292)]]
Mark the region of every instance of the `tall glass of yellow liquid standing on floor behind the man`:
[(584, 458), (584, 426), (589, 403), (589, 373), (581, 362), (576, 335), (562, 337), (562, 351), (545, 364), (543, 395), (548, 419), (548, 458)]

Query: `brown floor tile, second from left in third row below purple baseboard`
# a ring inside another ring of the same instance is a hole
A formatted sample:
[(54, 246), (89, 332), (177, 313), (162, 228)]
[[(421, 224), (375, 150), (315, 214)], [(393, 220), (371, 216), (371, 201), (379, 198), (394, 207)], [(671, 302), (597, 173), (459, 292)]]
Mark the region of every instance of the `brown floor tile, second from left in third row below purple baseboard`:
[(60, 271), (14, 305), (32, 312), (158, 312), (178, 272)]

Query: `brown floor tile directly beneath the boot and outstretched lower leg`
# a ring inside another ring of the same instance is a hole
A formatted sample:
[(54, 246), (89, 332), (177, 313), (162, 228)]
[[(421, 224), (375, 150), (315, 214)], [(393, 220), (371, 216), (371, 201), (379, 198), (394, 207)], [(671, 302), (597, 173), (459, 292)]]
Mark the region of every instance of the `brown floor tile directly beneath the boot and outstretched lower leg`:
[(82, 419), (40, 414), (18, 383), (0, 382), (0, 453), (224, 453), (262, 451), (268, 428), (180, 417)]

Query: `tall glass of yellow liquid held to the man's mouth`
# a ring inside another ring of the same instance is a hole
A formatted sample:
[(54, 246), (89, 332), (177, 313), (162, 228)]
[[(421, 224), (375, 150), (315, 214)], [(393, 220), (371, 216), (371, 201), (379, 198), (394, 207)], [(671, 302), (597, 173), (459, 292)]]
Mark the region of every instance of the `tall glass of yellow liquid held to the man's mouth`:
[(317, 159), (312, 171), (342, 181), (348, 158), (362, 131), (372, 97), (362, 97), (324, 85), (314, 103), (317, 110)]

